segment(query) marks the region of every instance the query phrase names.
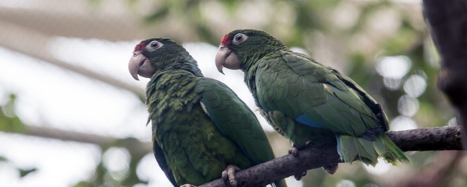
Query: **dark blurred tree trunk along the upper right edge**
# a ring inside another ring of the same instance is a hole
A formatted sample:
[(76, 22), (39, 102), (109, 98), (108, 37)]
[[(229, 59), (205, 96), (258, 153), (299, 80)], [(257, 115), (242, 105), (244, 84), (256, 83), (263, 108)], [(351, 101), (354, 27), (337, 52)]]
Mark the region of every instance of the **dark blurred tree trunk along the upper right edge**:
[[(467, 133), (467, 1), (423, 0), (433, 41), (441, 56), (438, 86), (456, 111), (457, 124)], [(464, 137), (467, 150), (467, 138)]]

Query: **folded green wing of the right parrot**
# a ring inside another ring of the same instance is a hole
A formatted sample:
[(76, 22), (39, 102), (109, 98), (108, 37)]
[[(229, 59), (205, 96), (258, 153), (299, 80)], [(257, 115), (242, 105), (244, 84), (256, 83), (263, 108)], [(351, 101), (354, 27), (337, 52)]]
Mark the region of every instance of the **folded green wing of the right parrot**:
[[(258, 100), (267, 110), (295, 119), (306, 115), (325, 129), (361, 136), (376, 128), (376, 117), (358, 94), (323, 65), (306, 56), (281, 51), (259, 62)], [(270, 75), (276, 75), (276, 81)], [(265, 76), (263, 76), (265, 75)]]

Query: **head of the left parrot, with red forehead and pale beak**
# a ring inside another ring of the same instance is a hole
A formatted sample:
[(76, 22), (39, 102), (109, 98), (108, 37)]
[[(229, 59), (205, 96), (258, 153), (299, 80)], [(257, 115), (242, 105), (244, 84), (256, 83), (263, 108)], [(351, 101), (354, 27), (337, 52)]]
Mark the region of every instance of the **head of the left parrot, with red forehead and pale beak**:
[(151, 78), (156, 72), (183, 69), (202, 77), (196, 60), (182, 45), (168, 38), (149, 38), (134, 47), (128, 64), (131, 75)]

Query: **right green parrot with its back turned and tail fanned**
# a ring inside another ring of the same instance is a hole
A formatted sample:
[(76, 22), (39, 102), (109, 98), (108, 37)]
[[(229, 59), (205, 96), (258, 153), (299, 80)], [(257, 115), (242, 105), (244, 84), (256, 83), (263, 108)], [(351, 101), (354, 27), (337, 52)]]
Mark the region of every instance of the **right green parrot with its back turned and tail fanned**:
[(345, 162), (359, 159), (374, 166), (379, 157), (394, 165), (410, 162), (384, 133), (388, 118), (381, 105), (360, 86), (264, 31), (227, 34), (216, 66), (219, 72), (223, 67), (244, 72), (262, 115), (293, 142), (292, 154), (307, 144), (337, 143)]

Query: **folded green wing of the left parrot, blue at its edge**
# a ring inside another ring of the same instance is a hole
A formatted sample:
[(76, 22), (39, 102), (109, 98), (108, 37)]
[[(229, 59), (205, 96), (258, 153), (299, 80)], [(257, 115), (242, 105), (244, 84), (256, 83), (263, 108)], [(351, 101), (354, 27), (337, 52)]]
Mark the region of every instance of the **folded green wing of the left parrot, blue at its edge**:
[[(225, 84), (202, 78), (194, 91), (201, 96), (201, 104), (218, 129), (241, 147), (253, 163), (274, 159), (268, 138), (254, 113)], [(276, 187), (285, 187), (283, 180)]]

